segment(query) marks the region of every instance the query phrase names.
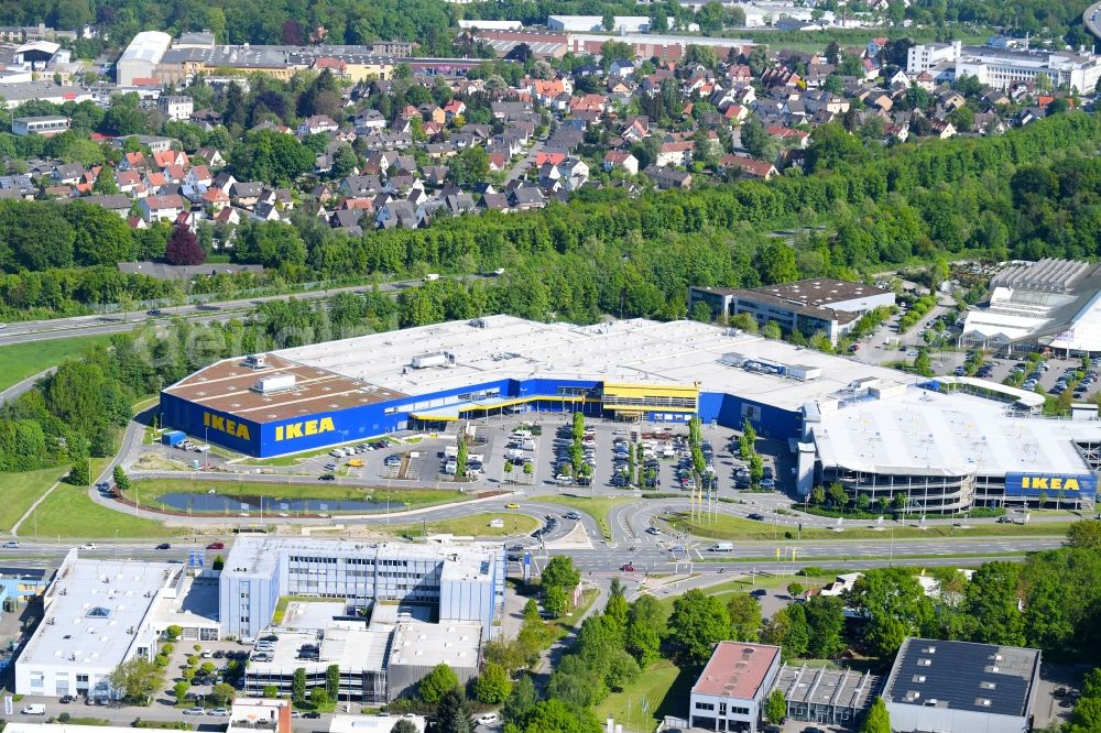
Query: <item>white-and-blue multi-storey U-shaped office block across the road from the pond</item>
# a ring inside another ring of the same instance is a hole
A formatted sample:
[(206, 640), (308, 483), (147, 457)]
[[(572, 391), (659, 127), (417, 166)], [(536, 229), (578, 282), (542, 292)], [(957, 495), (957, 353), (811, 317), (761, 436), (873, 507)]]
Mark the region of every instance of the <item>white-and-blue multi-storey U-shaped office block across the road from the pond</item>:
[(430, 609), (443, 622), (473, 621), (494, 636), (504, 601), (500, 546), (371, 545), (347, 540), (242, 536), (220, 579), (222, 633), (257, 636), (284, 595), (330, 598), (353, 609), (378, 601)]

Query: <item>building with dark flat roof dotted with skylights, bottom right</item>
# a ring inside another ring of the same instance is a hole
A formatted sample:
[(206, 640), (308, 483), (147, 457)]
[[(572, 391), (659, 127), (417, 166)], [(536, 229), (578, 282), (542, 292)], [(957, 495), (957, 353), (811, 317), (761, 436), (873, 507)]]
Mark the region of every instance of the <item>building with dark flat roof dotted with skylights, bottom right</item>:
[(901, 733), (1027, 733), (1040, 653), (1013, 646), (907, 638), (883, 691)]

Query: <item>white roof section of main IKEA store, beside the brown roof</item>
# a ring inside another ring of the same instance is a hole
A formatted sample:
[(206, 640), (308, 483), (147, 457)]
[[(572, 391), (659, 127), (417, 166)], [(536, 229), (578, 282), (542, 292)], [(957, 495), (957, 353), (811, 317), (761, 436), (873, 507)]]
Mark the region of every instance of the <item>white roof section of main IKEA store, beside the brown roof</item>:
[[(277, 355), (413, 396), (504, 379), (546, 378), (604, 382), (693, 384), (785, 409), (829, 396), (851, 382), (913, 378), (854, 359), (771, 341), (696, 321), (619, 320), (596, 326), (541, 324), (512, 316), (449, 321), (401, 331), (285, 349)], [(413, 358), (447, 352), (454, 363), (413, 369)], [(721, 362), (724, 353), (821, 370), (799, 382), (748, 372)]]

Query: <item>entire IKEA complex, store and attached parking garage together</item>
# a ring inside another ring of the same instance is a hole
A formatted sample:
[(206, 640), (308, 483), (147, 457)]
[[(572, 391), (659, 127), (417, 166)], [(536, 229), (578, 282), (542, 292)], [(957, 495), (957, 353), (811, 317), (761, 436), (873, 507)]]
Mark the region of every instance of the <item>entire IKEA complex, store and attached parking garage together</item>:
[(258, 457), (510, 413), (698, 416), (788, 440), (803, 494), (837, 481), (858, 505), (905, 494), (922, 512), (1092, 499), (1101, 423), (1045, 419), (1039, 395), (948, 381), (973, 394), (694, 321), (492, 316), (227, 359), (165, 389), (161, 413)]

